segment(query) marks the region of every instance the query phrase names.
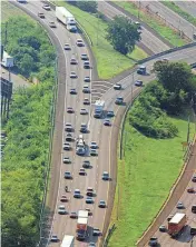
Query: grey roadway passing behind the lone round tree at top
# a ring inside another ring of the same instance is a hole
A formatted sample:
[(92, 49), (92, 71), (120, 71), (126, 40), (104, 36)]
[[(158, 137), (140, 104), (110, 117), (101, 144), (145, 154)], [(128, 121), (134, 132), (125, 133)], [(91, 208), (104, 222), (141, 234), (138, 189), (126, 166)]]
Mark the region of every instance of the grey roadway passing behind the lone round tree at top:
[[(111, 4), (99, 1), (98, 2), (98, 9), (102, 13), (105, 13), (108, 18), (112, 19), (115, 16), (125, 16), (122, 12), (120, 12), (118, 9), (114, 8)], [(169, 47), (165, 45), (161, 40), (159, 40), (156, 36), (154, 36), (151, 32), (149, 32), (147, 29), (143, 27), (141, 30), (141, 42), (154, 53), (161, 52), (164, 50), (168, 50)]]

